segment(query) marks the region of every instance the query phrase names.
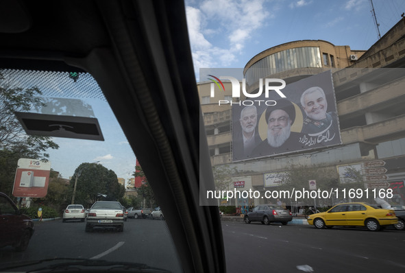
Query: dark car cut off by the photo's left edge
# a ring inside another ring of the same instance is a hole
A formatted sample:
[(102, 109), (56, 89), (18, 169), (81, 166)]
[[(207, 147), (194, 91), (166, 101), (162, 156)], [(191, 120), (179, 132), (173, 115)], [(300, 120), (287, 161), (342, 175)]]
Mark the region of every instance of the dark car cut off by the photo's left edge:
[(17, 251), (27, 249), (34, 233), (34, 222), (21, 213), (5, 193), (0, 193), (0, 247), (12, 246)]

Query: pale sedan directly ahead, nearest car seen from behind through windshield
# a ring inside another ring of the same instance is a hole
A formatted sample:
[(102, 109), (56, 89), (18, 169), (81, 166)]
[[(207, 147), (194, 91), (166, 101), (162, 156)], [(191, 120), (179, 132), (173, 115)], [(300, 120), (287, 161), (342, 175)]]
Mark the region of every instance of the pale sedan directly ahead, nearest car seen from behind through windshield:
[(97, 201), (91, 206), (86, 219), (86, 232), (94, 227), (124, 230), (123, 206), (116, 201)]

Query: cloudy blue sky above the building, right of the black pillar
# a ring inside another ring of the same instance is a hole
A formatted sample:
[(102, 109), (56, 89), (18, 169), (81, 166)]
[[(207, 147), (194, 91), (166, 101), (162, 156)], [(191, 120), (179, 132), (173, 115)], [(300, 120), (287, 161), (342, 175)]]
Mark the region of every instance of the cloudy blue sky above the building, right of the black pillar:
[[(405, 12), (404, 0), (373, 6), (381, 36)], [(355, 50), (378, 40), (369, 0), (186, 0), (186, 14), (197, 77), (199, 68), (243, 68), (261, 51), (293, 40)]]

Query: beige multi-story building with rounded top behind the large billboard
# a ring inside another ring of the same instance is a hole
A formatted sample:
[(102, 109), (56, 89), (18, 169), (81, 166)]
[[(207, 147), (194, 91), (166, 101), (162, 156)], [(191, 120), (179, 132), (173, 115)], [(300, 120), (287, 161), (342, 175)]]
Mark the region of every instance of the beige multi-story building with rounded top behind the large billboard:
[[(238, 174), (234, 182), (243, 180), (245, 187), (260, 192), (274, 186), (266, 182), (267, 177), (286, 171), (291, 165), (333, 169), (341, 183), (345, 181), (342, 170), (349, 166), (363, 175), (365, 188), (391, 188), (394, 195), (390, 201), (404, 203), (404, 37), (405, 20), (402, 19), (367, 51), (335, 46), (324, 40), (299, 40), (271, 47), (247, 62), (243, 69), (247, 93), (257, 93), (260, 78), (283, 79), (289, 86), (331, 71), (332, 102), (339, 116), (341, 137), (337, 145), (235, 161), (232, 132), (240, 126), (240, 121), (236, 116), (232, 120), (235, 105), (218, 103), (232, 100), (232, 84), (223, 82), (225, 90), (215, 92), (212, 97), (214, 84), (200, 82), (199, 95), (212, 165), (235, 167)], [(238, 101), (233, 98), (233, 102)], [(367, 164), (381, 166), (371, 169)], [(263, 202), (267, 200), (249, 200), (249, 204)], [(241, 202), (234, 200), (230, 204)]]

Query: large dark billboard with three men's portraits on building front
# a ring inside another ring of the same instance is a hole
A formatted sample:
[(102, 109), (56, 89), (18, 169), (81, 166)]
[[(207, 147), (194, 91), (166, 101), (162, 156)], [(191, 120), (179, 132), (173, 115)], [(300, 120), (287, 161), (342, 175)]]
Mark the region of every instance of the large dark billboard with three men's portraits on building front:
[(233, 161), (341, 144), (331, 71), (264, 91), (232, 103)]

